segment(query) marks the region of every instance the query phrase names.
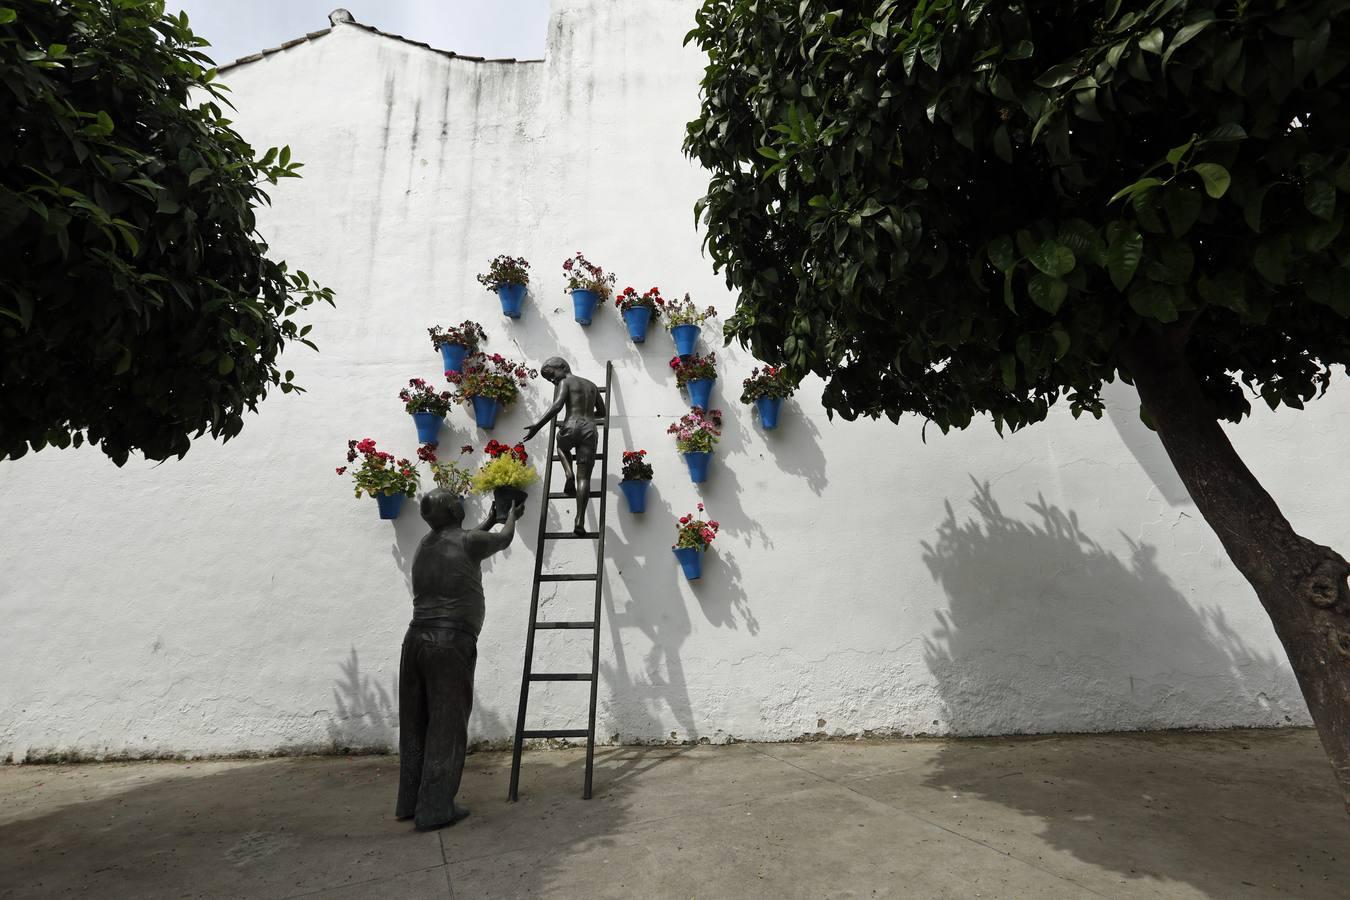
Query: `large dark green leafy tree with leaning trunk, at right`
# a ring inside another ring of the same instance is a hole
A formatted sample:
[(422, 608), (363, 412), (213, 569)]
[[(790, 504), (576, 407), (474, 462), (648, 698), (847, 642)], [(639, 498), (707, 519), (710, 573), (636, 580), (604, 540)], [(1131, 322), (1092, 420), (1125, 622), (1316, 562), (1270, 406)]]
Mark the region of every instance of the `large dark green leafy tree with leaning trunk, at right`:
[(944, 432), (1133, 383), (1350, 797), (1350, 564), (1220, 428), (1350, 362), (1350, 3), (707, 0), (686, 40), (728, 340)]

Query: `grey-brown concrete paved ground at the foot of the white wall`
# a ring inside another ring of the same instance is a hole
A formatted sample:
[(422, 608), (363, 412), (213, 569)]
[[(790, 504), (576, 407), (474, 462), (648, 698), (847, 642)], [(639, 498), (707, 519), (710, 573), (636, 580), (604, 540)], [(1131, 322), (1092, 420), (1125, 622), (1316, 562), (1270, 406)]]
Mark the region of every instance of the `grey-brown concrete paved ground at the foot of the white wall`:
[(470, 757), (394, 822), (393, 757), (0, 768), (0, 897), (1336, 897), (1311, 731)]

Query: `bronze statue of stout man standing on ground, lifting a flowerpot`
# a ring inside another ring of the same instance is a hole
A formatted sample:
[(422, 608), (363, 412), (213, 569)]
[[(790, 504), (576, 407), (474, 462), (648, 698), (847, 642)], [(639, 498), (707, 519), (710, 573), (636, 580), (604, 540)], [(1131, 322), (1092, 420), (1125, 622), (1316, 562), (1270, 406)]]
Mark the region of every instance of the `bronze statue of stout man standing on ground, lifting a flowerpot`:
[(431, 525), (413, 555), (413, 621), (398, 663), (398, 803), (394, 816), (425, 831), (468, 815), (455, 804), (464, 770), (468, 714), (474, 708), (474, 665), (483, 627), (482, 561), (510, 545), (517, 506), (506, 526), (487, 521), (462, 528), (464, 505), (436, 488), (421, 499)]

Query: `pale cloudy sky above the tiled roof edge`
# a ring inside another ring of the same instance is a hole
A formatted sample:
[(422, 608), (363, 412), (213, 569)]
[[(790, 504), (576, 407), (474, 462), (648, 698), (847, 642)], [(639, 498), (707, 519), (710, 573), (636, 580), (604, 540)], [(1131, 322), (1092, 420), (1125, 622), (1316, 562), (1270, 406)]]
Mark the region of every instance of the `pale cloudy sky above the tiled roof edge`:
[(471, 57), (541, 59), (548, 0), (169, 0), (211, 42), (217, 63), (328, 27), (344, 8), (362, 24)]

